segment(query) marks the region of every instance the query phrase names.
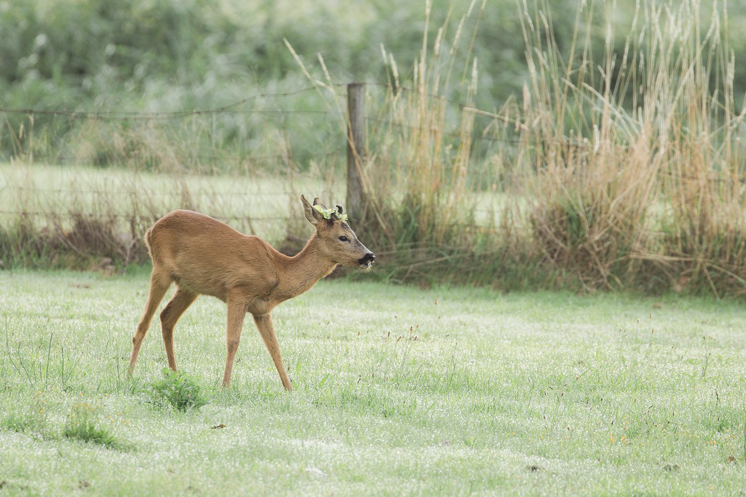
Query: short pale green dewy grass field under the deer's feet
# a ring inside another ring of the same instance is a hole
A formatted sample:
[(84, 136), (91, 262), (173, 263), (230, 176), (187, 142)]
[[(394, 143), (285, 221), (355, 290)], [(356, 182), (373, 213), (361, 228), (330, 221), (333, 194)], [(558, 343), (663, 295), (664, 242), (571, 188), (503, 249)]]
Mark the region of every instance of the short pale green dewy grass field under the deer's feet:
[[(3, 495), (746, 490), (741, 303), (325, 281), (275, 311), (285, 393), (250, 321), (219, 390), (225, 306), (201, 297), (176, 360), (210, 403), (180, 413), (141, 392), (156, 324), (123, 375), (144, 271), (0, 285)], [(81, 404), (111, 448), (65, 436)]]

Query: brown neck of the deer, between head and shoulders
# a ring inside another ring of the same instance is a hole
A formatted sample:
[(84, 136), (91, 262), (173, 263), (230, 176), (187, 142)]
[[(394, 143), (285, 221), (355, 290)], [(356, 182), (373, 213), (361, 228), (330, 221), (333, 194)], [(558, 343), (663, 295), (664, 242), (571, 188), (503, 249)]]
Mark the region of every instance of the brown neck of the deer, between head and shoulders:
[(319, 245), (319, 238), (313, 233), (303, 250), (296, 256), (285, 259), (278, 284), (280, 298), (292, 299), (309, 291), (319, 279), (336, 268), (336, 263), (323, 254)]

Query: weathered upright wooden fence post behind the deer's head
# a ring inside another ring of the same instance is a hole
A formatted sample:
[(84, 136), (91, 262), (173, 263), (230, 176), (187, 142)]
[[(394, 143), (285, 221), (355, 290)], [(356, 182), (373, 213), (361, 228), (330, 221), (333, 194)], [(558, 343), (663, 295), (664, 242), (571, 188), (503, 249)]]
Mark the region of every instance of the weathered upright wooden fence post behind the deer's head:
[(365, 85), (347, 85), (347, 205), (345, 209), (362, 221), (365, 217), (363, 186), (360, 183), (360, 168), (363, 167), (366, 146), (365, 130)]

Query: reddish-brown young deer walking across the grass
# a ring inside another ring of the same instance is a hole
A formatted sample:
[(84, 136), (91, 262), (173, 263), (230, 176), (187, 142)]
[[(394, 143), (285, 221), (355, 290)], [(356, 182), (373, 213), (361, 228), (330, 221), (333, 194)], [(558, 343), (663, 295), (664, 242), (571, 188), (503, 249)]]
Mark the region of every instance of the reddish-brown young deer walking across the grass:
[(169, 367), (176, 370), (174, 326), (198, 295), (212, 295), (228, 304), (228, 355), (223, 387), (231, 384), (246, 312), (254, 316), (264, 344), (275, 362), (286, 390), (287, 378), (280, 346), (272, 326), (272, 309), (285, 300), (310, 290), (337, 265), (370, 268), (374, 254), (358, 241), (345, 222), (342, 206), (327, 209), (319, 199), (313, 206), (301, 195), (306, 219), (316, 227), (303, 250), (289, 257), (257, 236), (246, 236), (216, 219), (198, 212), (176, 210), (160, 218), (145, 233), (145, 244), (153, 261), (150, 294), (137, 332), (132, 338), (131, 374), (148, 332), (153, 314), (171, 282), (177, 290), (160, 313), (163, 343)]

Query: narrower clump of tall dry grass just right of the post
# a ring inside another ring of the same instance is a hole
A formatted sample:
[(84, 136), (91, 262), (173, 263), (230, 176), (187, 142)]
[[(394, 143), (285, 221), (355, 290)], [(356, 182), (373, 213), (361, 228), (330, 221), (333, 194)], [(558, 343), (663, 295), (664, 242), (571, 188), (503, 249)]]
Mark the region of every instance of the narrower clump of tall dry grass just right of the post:
[[(364, 172), (365, 183), (376, 186), (366, 193), (385, 214), (379, 223), (389, 242), (463, 246), (471, 241), (474, 206), (468, 177), (473, 175), (475, 158), (474, 114), (468, 108), (473, 107), (477, 92), (477, 60), (468, 54), (459, 61), (468, 74), (461, 83), (466, 101), (460, 113), (453, 113), (451, 102), (437, 95), (448, 89), (453, 77), (455, 48), (464, 22), (472, 15), (478, 22), (485, 4), (475, 8), (477, 2), (472, 1), (451, 37), (446, 19), (430, 48), (428, 1), (421, 53), (413, 67), (413, 89), (397, 92), (399, 82), (394, 80), (384, 97), (386, 119), (372, 130), (369, 146), (376, 148)], [(394, 58), (382, 50), (392, 75), (398, 78)]]

